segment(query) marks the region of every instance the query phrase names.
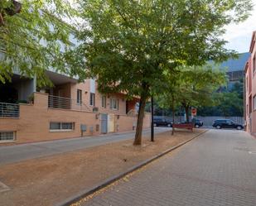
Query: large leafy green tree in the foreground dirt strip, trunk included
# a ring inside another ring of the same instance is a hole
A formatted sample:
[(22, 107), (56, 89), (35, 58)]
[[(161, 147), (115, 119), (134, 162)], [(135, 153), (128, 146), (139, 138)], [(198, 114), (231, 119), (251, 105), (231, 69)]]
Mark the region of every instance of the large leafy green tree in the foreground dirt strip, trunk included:
[(223, 47), (223, 27), (244, 20), (251, 1), (80, 0), (80, 8), (86, 23), (75, 54), (102, 93), (140, 96), (133, 142), (140, 145), (145, 104), (163, 72), (226, 60), (233, 51)]

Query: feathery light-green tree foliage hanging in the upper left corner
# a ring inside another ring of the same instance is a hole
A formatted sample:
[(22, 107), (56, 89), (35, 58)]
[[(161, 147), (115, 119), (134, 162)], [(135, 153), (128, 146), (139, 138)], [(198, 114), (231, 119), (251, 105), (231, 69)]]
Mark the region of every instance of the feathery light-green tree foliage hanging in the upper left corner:
[(76, 12), (68, 0), (2, 0), (0, 14), (0, 82), (16, 70), (42, 85), (49, 84), (45, 69), (69, 74), (64, 51), (72, 47), (72, 28), (61, 19)]

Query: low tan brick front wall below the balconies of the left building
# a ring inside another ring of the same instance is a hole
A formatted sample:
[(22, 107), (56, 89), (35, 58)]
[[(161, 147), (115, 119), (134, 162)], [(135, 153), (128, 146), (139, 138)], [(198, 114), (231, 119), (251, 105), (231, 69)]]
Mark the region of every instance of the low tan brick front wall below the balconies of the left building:
[[(34, 104), (20, 104), (19, 118), (0, 118), (0, 131), (16, 131), (17, 142), (46, 141), (80, 137), (80, 124), (87, 125), (85, 136), (100, 134), (99, 113), (48, 108), (48, 94), (34, 93)], [(137, 117), (115, 115), (115, 132), (132, 131)], [(50, 132), (50, 122), (75, 122), (71, 132)], [(96, 131), (99, 125), (99, 131)], [(150, 114), (146, 113), (144, 128), (150, 126)], [(93, 132), (89, 131), (93, 127)]]

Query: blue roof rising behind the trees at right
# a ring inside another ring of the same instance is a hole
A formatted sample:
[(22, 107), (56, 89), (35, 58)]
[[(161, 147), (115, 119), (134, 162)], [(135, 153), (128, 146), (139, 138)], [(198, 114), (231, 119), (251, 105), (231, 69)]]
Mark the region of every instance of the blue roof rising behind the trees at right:
[(238, 59), (229, 59), (220, 64), (220, 69), (227, 69), (227, 72), (244, 70), (244, 65), (249, 59), (249, 52), (239, 54)]

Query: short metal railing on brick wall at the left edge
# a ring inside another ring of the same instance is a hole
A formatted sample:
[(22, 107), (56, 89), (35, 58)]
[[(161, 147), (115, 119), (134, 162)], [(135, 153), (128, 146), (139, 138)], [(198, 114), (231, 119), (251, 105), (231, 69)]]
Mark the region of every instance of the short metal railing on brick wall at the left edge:
[(0, 103), (0, 117), (19, 117), (20, 107), (17, 103)]

